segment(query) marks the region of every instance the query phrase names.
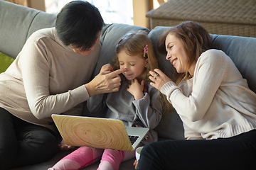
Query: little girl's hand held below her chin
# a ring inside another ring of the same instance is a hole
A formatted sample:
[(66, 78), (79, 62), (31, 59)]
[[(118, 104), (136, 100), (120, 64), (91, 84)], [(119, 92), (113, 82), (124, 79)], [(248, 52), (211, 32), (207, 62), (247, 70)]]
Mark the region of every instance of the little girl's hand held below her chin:
[(142, 80), (142, 84), (139, 84), (139, 81), (137, 79), (134, 79), (131, 82), (132, 84), (129, 84), (129, 88), (127, 89), (127, 91), (129, 91), (129, 93), (134, 96), (135, 100), (143, 98), (143, 89), (145, 81)]

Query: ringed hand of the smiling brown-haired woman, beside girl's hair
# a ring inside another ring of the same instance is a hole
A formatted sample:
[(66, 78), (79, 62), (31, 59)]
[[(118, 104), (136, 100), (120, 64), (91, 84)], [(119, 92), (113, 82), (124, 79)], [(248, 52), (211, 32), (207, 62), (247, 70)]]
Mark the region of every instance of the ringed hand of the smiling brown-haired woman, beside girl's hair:
[(166, 76), (163, 72), (161, 72), (160, 69), (154, 69), (154, 72), (149, 71), (149, 79), (151, 79), (150, 85), (154, 86), (154, 88), (158, 89), (159, 91), (161, 90), (161, 87), (164, 86), (168, 81), (171, 81), (169, 77)]

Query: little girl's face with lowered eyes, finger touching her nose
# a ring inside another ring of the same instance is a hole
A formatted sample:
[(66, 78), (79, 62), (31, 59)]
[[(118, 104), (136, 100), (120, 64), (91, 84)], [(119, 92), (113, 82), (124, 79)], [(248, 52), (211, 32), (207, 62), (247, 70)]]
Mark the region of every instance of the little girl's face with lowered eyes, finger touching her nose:
[(120, 69), (124, 70), (124, 77), (133, 80), (144, 72), (148, 59), (144, 59), (142, 55), (130, 56), (122, 50), (117, 55)]

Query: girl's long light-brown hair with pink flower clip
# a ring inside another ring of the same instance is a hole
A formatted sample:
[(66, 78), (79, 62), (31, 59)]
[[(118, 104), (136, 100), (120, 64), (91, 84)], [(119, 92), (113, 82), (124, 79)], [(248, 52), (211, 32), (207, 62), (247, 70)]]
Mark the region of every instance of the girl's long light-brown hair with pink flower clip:
[[(148, 52), (145, 53), (144, 47), (148, 47)], [(119, 41), (116, 47), (116, 54), (124, 50), (127, 55), (137, 56), (140, 55), (144, 60), (148, 59), (149, 64), (145, 67), (144, 72), (137, 78), (139, 81), (149, 81), (149, 71), (153, 71), (158, 67), (156, 56), (154, 55), (153, 45), (147, 33), (144, 30), (128, 33)], [(119, 69), (118, 57), (115, 55), (113, 60), (114, 69)]]

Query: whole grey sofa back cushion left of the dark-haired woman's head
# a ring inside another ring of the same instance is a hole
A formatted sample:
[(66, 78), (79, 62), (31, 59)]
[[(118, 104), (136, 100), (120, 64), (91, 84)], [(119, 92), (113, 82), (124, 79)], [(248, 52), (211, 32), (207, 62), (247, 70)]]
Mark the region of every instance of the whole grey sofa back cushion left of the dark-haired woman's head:
[(33, 32), (55, 26), (55, 14), (8, 1), (0, 1), (0, 9), (0, 52), (13, 58)]

